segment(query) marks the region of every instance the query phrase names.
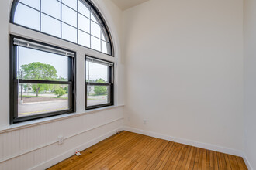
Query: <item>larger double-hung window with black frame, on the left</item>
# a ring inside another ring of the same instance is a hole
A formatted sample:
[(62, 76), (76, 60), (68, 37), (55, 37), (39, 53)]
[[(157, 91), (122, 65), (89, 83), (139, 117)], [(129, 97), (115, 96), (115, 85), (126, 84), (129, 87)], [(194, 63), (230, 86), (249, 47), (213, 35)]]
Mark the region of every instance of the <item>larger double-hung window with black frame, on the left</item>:
[(11, 124), (75, 111), (75, 53), (11, 36)]

